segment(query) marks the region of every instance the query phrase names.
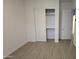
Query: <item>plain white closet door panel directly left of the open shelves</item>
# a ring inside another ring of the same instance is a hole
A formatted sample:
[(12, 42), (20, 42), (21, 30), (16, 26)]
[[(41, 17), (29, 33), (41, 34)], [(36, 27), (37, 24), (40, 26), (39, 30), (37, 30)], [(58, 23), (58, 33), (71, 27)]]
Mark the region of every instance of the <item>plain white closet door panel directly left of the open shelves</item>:
[(45, 10), (42, 8), (35, 8), (34, 13), (35, 13), (36, 41), (46, 41)]

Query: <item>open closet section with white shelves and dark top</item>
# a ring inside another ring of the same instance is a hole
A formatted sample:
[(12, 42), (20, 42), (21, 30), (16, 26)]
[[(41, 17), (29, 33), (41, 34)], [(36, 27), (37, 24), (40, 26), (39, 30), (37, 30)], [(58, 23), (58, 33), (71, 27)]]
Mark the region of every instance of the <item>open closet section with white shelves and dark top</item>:
[(46, 40), (55, 39), (55, 9), (45, 9), (46, 14)]

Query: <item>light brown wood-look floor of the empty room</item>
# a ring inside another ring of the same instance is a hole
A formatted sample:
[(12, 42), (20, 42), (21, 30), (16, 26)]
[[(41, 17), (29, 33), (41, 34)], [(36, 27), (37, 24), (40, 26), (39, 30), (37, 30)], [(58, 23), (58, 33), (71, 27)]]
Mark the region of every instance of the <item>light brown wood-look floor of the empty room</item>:
[(6, 59), (76, 59), (76, 48), (71, 41), (29, 42)]

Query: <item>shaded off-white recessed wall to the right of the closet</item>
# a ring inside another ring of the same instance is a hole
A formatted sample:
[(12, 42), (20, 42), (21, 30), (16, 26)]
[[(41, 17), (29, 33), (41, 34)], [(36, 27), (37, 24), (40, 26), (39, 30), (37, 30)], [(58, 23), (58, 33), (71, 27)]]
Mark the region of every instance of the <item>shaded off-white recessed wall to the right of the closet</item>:
[(72, 39), (72, 2), (61, 2), (60, 39)]

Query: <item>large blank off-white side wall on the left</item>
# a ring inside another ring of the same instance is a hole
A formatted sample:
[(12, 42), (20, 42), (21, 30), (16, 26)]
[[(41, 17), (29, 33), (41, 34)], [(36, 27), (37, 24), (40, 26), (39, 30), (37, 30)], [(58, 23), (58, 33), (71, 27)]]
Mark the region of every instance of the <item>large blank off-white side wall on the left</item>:
[(4, 0), (4, 57), (27, 42), (24, 8), (24, 0)]

